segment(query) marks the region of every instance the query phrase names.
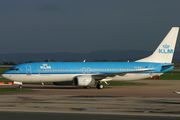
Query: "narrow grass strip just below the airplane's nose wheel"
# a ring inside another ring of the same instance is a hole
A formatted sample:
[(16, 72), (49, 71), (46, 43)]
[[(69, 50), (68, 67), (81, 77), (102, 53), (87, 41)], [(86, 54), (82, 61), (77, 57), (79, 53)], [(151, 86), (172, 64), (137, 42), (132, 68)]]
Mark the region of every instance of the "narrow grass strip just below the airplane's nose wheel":
[(7, 93), (7, 92), (27, 92), (27, 91), (33, 91), (33, 90), (16, 89), (16, 88), (0, 88), (0, 93)]

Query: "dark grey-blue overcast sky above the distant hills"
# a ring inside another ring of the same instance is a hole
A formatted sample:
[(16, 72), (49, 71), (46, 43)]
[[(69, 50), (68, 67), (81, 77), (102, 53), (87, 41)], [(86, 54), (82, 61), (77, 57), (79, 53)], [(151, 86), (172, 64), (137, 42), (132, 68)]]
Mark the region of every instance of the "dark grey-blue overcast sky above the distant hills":
[(180, 0), (0, 0), (0, 54), (154, 51), (180, 26), (179, 6)]

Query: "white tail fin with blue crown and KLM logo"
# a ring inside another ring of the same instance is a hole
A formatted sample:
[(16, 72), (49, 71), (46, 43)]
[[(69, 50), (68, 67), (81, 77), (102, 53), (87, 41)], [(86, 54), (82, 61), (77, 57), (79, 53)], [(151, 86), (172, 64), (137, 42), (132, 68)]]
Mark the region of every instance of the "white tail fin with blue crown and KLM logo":
[(164, 40), (151, 56), (137, 60), (135, 62), (171, 63), (174, 55), (178, 32), (179, 27), (172, 27)]

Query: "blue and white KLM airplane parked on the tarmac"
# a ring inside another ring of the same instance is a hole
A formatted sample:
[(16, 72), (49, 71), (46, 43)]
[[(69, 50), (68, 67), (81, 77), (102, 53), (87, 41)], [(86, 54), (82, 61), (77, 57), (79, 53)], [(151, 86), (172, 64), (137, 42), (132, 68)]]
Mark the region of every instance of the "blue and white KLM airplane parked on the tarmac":
[(37, 62), (11, 67), (2, 74), (22, 88), (23, 83), (73, 81), (74, 85), (103, 89), (103, 82), (140, 80), (173, 69), (179, 27), (172, 27), (154, 53), (134, 62)]

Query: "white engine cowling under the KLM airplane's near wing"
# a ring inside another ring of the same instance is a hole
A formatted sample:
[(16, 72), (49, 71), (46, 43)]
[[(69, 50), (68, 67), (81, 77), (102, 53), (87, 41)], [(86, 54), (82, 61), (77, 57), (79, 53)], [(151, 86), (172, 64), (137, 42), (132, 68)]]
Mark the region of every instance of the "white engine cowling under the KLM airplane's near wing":
[(95, 79), (89, 75), (77, 76), (74, 78), (74, 85), (76, 86), (93, 86)]

